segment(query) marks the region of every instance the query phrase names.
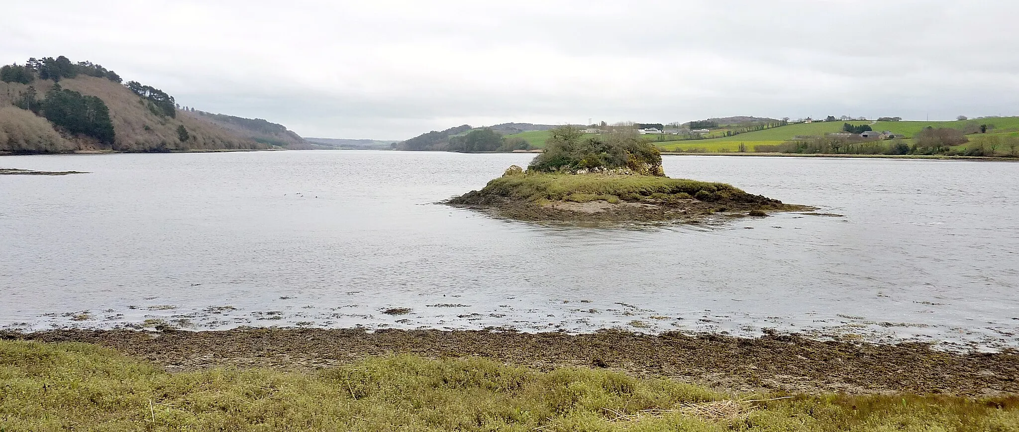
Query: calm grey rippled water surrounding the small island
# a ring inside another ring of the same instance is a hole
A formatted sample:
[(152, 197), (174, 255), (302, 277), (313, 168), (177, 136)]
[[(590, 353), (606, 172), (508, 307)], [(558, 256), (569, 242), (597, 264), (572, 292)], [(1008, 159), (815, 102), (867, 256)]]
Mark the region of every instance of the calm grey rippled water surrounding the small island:
[(433, 204), (531, 157), (0, 158), (90, 171), (0, 176), (0, 327), (774, 328), (1019, 345), (1019, 164), (665, 158), (673, 177), (845, 217), (609, 229)]

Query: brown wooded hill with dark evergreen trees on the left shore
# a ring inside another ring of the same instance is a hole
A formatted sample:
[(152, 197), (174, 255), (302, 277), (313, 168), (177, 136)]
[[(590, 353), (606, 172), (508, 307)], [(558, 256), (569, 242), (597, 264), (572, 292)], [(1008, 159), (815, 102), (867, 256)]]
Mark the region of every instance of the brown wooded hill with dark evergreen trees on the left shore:
[[(180, 109), (172, 96), (66, 57), (0, 68), (0, 153), (293, 148), (285, 127)], [(307, 143), (304, 146), (309, 146)]]

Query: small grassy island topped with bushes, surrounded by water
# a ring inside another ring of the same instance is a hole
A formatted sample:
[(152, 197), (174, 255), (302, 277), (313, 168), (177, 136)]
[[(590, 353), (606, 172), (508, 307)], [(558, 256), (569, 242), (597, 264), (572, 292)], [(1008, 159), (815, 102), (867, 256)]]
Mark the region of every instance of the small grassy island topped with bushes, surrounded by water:
[(553, 129), (527, 170), (511, 166), (481, 191), (445, 204), (508, 219), (607, 223), (696, 223), (815, 210), (726, 183), (666, 177), (658, 149), (636, 133), (585, 137), (573, 126)]

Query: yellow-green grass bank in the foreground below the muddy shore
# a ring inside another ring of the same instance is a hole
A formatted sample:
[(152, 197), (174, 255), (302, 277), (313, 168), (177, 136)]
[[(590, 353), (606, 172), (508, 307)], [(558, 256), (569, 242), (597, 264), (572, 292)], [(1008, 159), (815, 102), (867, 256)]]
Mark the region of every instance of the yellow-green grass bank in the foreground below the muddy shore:
[(169, 374), (85, 343), (0, 341), (0, 431), (1016, 431), (1019, 398), (734, 398), (586, 369), (376, 358)]

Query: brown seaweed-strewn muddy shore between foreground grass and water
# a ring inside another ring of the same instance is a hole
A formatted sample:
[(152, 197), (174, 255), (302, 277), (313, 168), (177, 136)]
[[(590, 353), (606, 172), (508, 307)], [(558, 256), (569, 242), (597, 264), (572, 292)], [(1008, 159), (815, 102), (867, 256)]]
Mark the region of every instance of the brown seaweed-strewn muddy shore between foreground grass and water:
[(1019, 352), (948, 353), (925, 343), (871, 344), (767, 334), (518, 333), (485, 330), (240, 328), (225, 331), (50, 330), (0, 338), (89, 342), (168, 371), (210, 367), (314, 370), (369, 356), (479, 356), (548, 370), (606, 368), (736, 392), (1019, 393)]

